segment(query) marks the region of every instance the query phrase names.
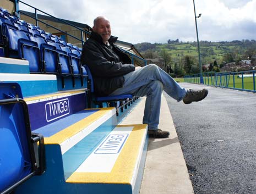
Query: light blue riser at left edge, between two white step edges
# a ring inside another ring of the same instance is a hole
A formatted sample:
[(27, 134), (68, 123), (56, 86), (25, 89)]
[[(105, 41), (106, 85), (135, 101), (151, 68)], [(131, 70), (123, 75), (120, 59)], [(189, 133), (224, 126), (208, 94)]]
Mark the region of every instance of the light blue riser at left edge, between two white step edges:
[(29, 65), (0, 63), (1, 73), (29, 74)]

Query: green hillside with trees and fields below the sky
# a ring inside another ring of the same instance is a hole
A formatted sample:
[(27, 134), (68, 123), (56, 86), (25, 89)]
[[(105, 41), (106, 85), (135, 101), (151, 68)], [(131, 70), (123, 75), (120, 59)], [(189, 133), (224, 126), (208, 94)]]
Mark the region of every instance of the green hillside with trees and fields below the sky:
[[(151, 44), (151, 43), (138, 43), (135, 45), (139, 52), (143, 54), (145, 58), (149, 52), (154, 52), (155, 58), (161, 57), (161, 49), (166, 49), (171, 54), (172, 63), (179, 64), (180, 60), (184, 56), (192, 56), (195, 60), (198, 60), (198, 48), (197, 42), (187, 43), (171, 43), (171, 44)], [(256, 41), (243, 40), (232, 42), (208, 42), (200, 41), (200, 53), (202, 64), (213, 63), (214, 60), (218, 64), (223, 63), (223, 57), (226, 54), (231, 54), (233, 61), (246, 59), (246, 52), (248, 49), (256, 51)], [(154, 57), (153, 57), (154, 58)]]

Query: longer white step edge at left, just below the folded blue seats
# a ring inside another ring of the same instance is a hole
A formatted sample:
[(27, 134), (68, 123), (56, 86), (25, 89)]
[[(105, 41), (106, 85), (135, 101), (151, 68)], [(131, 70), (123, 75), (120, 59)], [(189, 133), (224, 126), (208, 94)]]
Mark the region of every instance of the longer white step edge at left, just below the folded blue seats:
[(0, 74), (0, 81), (50, 81), (57, 80), (56, 75), (37, 74)]

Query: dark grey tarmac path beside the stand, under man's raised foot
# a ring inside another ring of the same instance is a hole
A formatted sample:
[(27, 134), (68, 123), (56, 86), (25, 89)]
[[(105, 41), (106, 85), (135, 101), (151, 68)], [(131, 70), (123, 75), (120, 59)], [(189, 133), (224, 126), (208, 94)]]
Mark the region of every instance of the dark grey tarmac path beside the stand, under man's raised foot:
[(208, 97), (192, 104), (166, 95), (194, 192), (256, 193), (256, 94), (195, 84)]

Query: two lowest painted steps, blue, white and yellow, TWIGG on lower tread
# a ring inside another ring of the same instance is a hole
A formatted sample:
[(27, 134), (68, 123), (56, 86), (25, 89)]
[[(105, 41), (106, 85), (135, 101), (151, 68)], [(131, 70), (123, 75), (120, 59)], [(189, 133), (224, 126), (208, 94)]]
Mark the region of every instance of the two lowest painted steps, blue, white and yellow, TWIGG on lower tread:
[(26, 181), (17, 193), (139, 193), (146, 128), (116, 126), (115, 108), (101, 108), (35, 130), (45, 137), (46, 172)]

